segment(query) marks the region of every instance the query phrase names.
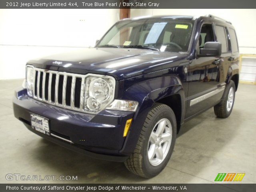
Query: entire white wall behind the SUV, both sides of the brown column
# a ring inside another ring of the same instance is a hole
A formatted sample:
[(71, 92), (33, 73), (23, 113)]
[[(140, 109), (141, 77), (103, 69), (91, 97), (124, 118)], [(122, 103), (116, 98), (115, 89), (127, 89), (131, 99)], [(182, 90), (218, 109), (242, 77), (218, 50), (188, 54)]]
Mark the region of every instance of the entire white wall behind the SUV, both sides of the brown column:
[[(131, 10), (131, 17), (164, 14), (214, 14), (229, 20), (236, 28), (240, 53), (256, 54), (256, 10)], [(24, 66), (32, 58), (94, 46), (118, 19), (118, 9), (0, 9), (0, 80), (24, 78)]]

